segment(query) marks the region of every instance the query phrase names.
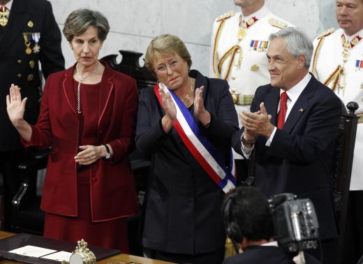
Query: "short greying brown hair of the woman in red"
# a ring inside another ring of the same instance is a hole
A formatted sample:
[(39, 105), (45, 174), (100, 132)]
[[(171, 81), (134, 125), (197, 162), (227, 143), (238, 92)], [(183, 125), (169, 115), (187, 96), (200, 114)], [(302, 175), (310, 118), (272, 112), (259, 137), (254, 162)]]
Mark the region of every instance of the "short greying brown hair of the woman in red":
[(77, 9), (68, 15), (64, 23), (63, 34), (68, 42), (71, 42), (74, 36), (83, 34), (89, 27), (98, 29), (98, 38), (103, 43), (105, 41), (110, 25), (108, 20), (101, 12), (89, 9)]

